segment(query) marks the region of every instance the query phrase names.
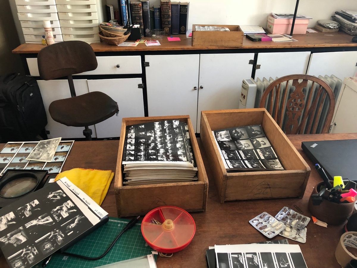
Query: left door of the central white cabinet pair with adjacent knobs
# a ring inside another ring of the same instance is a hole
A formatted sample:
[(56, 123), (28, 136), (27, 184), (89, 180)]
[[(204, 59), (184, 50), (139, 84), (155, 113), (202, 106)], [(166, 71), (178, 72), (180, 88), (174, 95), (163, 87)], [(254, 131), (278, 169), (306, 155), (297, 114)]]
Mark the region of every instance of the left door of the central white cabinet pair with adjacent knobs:
[(196, 131), (200, 55), (146, 55), (149, 116), (190, 115)]

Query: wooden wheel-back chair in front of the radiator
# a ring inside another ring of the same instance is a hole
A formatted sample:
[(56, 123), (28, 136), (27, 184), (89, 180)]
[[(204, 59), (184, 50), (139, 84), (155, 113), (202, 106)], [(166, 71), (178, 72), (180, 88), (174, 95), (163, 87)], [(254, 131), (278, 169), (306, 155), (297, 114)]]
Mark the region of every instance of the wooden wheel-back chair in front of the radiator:
[(315, 76), (287, 75), (268, 85), (259, 107), (268, 110), (285, 134), (328, 133), (335, 96), (330, 86)]

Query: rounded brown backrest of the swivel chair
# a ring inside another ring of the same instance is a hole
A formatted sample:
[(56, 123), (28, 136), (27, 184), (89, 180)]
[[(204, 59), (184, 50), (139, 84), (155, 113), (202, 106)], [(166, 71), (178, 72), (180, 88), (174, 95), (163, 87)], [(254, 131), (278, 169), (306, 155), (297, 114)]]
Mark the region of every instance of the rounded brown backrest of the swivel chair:
[(44, 80), (95, 70), (98, 66), (92, 47), (84, 41), (64, 41), (45, 46), (37, 55)]

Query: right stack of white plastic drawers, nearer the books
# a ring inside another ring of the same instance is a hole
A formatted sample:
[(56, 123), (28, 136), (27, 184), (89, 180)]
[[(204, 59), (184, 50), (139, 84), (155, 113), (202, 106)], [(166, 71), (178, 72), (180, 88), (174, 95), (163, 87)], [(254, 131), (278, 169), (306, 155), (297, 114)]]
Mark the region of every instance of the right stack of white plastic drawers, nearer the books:
[(100, 0), (56, 0), (64, 41), (100, 42), (99, 24), (103, 22)]

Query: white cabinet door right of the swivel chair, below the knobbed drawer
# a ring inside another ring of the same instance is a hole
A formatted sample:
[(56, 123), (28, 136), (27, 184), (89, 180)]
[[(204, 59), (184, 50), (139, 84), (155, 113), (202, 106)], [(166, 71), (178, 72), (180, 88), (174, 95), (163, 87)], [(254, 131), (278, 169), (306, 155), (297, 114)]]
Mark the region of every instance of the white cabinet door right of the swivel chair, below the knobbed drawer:
[(95, 124), (97, 138), (119, 137), (124, 117), (144, 116), (141, 78), (88, 80), (89, 92), (101, 91), (118, 103), (119, 113)]

